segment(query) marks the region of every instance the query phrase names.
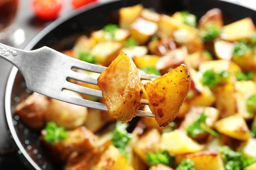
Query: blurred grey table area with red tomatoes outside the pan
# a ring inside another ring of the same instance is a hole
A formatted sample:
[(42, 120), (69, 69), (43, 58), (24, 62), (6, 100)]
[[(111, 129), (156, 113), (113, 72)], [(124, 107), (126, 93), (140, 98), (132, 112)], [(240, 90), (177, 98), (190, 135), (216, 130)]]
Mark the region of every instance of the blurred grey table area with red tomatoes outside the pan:
[[(81, 6), (111, 0), (0, 0), (0, 42), (23, 49), (25, 45), (53, 20)], [(256, 0), (224, 0), (256, 10)], [(26, 170), (10, 149), (5, 127), (3, 96), (12, 65), (0, 59), (0, 170)]]

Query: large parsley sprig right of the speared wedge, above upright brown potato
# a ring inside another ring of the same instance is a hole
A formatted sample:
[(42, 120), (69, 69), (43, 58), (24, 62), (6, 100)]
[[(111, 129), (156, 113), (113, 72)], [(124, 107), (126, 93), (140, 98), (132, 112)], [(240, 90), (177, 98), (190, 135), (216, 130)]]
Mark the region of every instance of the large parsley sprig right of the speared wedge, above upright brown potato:
[(214, 87), (228, 77), (229, 73), (227, 71), (221, 71), (217, 73), (214, 70), (210, 69), (204, 72), (201, 78), (201, 83), (209, 87)]

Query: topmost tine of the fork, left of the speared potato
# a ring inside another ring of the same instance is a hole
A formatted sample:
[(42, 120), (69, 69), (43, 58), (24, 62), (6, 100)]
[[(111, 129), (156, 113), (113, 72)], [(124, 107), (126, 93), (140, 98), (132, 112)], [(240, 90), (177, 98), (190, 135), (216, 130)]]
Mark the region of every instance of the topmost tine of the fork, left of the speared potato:
[(102, 71), (104, 71), (106, 69), (106, 67), (91, 64), (88, 62), (83, 62), (79, 59), (73, 59), (73, 58), (71, 58), (70, 64), (71, 64), (72, 68), (79, 68), (82, 70), (92, 71), (92, 72), (96, 72), (96, 73), (102, 73)]

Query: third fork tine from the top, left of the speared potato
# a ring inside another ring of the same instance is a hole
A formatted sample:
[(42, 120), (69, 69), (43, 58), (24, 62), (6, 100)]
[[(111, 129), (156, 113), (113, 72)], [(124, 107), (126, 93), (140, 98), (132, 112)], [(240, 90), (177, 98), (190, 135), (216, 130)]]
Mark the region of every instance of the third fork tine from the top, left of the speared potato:
[(66, 84), (67, 85), (64, 88), (67, 90), (76, 91), (78, 93), (87, 94), (90, 96), (102, 97), (102, 91), (95, 90), (92, 88), (83, 87), (81, 85), (76, 85), (76, 84), (68, 82), (68, 81), (66, 82)]

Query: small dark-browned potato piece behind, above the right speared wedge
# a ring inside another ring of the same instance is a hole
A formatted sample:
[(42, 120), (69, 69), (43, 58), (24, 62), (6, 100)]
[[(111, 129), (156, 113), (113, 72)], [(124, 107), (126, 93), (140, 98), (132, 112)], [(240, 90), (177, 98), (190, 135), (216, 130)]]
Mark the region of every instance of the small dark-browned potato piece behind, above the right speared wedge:
[(148, 49), (152, 54), (163, 56), (169, 50), (175, 50), (177, 45), (173, 38), (166, 38), (158, 41), (151, 41), (148, 43)]

